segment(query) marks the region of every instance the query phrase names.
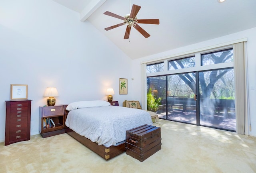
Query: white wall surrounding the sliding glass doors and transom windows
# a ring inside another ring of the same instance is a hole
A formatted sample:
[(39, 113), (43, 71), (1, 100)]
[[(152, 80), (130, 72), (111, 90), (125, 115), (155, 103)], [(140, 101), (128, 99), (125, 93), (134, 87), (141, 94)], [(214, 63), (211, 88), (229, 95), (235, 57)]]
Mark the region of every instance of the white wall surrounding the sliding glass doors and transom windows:
[[(256, 90), (251, 90), (251, 87), (254, 86), (254, 88), (256, 88), (256, 28), (252, 28), (252, 29), (248, 29), (245, 31), (241, 31), (238, 33), (234, 33), (234, 34), (230, 34), (230, 35), (226, 35), (224, 37), (219, 37), (216, 39), (212, 39), (212, 40), (208, 40), (208, 41), (203, 41), (200, 43), (196, 43), (193, 45), (189, 45), (186, 47), (180, 47), (178, 49), (173, 49), (170, 51), (166, 51), (166, 52), (162, 52), (162, 53), (158, 53), (155, 55), (150, 55), (148, 57), (143, 57), (140, 59), (136, 59), (133, 60), (133, 65), (132, 65), (132, 71), (133, 71), (133, 76), (136, 76), (136, 80), (134, 79), (134, 96), (136, 100), (141, 100), (141, 95), (140, 95), (140, 90), (136, 89), (136, 86), (140, 86), (141, 85), (141, 80), (140, 80), (140, 76), (141, 76), (141, 67), (140, 67), (140, 63), (143, 61), (149, 61), (149, 60), (154, 60), (154, 59), (158, 59), (161, 57), (166, 57), (166, 56), (170, 56), (170, 55), (176, 55), (178, 53), (184, 53), (187, 51), (193, 51), (196, 49), (201, 49), (204, 47), (208, 47), (208, 46), (212, 46), (212, 45), (217, 45), (217, 44), (221, 44), (221, 43), (226, 43), (229, 41), (233, 41), (236, 39), (242, 39), (247, 37), (248, 41), (247, 41), (247, 58), (248, 58), (248, 87), (249, 87), (249, 99), (250, 99), (250, 116), (251, 116), (251, 131), (248, 130), (248, 134), (251, 136), (256, 136), (256, 114), (254, 112), (256, 112), (256, 106), (255, 106), (255, 102), (256, 102)], [(249, 123), (249, 122), (248, 122)]]

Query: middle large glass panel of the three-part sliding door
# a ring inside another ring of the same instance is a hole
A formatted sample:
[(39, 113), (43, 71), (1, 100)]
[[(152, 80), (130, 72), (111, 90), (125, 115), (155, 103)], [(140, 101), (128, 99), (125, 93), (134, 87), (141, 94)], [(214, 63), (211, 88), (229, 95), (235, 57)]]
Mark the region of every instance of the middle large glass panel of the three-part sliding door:
[(196, 73), (168, 75), (167, 120), (196, 124)]

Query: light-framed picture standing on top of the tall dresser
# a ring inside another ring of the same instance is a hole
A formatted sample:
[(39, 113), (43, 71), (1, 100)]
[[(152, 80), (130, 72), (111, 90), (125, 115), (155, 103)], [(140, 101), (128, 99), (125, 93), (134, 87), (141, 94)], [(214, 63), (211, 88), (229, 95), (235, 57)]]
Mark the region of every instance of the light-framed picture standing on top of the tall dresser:
[(28, 99), (28, 85), (11, 84), (10, 100)]

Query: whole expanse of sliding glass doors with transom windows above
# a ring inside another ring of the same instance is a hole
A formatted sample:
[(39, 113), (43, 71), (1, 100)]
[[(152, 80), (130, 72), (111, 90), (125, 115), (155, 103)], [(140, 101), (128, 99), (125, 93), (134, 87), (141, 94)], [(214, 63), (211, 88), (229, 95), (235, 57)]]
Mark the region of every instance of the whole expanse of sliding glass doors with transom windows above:
[(147, 66), (148, 73), (169, 69), (147, 74), (148, 109), (165, 120), (235, 132), (233, 49), (189, 56)]

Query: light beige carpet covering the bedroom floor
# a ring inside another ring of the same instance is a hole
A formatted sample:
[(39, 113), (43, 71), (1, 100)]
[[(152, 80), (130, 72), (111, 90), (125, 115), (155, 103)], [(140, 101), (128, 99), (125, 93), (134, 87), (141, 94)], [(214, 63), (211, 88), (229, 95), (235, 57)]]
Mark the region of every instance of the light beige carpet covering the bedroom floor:
[(254, 173), (256, 138), (159, 120), (162, 149), (140, 162), (126, 153), (105, 161), (68, 134), (8, 146), (0, 173)]

